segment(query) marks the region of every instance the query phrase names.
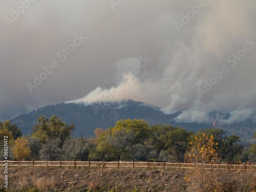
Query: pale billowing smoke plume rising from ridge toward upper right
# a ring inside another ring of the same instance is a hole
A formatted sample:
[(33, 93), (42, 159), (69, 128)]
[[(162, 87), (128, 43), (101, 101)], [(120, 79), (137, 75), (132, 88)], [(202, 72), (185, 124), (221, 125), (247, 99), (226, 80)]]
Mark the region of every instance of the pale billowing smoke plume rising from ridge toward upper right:
[[(251, 70), (255, 70), (252, 61), (256, 48), (253, 46), (244, 57), (239, 58), (235, 67), (228, 63), (227, 57), (243, 49), (245, 39), (256, 41), (252, 27), (254, 25), (250, 23), (252, 15), (248, 15), (245, 5), (238, 1), (216, 1), (208, 3), (207, 6), (191, 21), (193, 24), (181, 30), (180, 33), (183, 34), (175, 34), (174, 31), (170, 33), (176, 39), (172, 44), (165, 45), (164, 51), (173, 51), (159, 55), (158, 61), (164, 63), (160, 65), (162, 72), (157, 72), (158, 77), (145, 68), (138, 77), (131, 75), (131, 80), (125, 81), (124, 76), (127, 74), (123, 73), (120, 75), (123, 77), (120, 91), (120, 84), (110, 89), (97, 88), (79, 101), (119, 101), (132, 98), (160, 106), (166, 114), (182, 111), (176, 119), (186, 122), (210, 122), (212, 118), (208, 113), (214, 110), (234, 110), (230, 118), (222, 120), (221, 123), (239, 122), (249, 118), (256, 106), (253, 99), (256, 81), (251, 73)], [(173, 17), (172, 13), (164, 13), (158, 17), (155, 25), (158, 29), (170, 31), (166, 28), (171, 26), (165, 28), (163, 25), (173, 23)], [(148, 65), (155, 65), (155, 62)], [(122, 69), (127, 70), (127, 66), (132, 68), (132, 65), (133, 61), (130, 59), (123, 59), (115, 66), (120, 72)], [(221, 71), (223, 66), (226, 66), (227, 73)], [(222, 72), (221, 79), (214, 76), (218, 71)], [(116, 74), (120, 74), (118, 72)], [(211, 77), (215, 77), (218, 82), (211, 84)], [(198, 88), (203, 89), (205, 81), (211, 88), (204, 90), (200, 98)], [(245, 109), (251, 106), (253, 109)]]

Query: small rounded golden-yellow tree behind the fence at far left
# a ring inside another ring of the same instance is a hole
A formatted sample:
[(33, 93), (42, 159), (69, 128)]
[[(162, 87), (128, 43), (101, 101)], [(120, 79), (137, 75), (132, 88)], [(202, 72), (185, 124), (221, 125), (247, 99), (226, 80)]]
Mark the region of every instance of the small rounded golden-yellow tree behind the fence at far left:
[(29, 158), (31, 155), (28, 139), (23, 137), (17, 138), (11, 149), (14, 154), (14, 158), (17, 160)]

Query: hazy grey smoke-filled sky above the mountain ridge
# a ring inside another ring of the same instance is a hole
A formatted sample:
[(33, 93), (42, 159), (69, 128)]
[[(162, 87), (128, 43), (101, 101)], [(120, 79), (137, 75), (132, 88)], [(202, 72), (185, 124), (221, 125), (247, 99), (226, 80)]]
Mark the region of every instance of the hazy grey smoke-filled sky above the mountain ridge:
[(254, 0), (0, 2), (2, 120), (77, 98), (255, 113)]

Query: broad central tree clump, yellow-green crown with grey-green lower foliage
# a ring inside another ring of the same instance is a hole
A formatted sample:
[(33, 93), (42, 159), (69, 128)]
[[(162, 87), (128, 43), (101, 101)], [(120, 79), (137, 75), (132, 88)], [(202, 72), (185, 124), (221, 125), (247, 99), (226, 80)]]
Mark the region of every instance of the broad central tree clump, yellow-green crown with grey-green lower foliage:
[(140, 119), (119, 120), (114, 127), (109, 127), (106, 131), (97, 128), (94, 131), (97, 147), (91, 152), (90, 159), (132, 158), (132, 145), (144, 144), (148, 139), (149, 131), (149, 124)]

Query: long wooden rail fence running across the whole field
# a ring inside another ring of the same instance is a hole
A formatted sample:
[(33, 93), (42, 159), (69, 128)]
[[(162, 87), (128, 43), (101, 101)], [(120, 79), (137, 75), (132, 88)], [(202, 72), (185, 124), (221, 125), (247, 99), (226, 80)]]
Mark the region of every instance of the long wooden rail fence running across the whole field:
[[(0, 161), (5, 166), (6, 161)], [(147, 167), (147, 168), (203, 168), (203, 169), (256, 169), (256, 165), (230, 165), (230, 164), (195, 164), (195, 163), (168, 163), (168, 162), (142, 162), (142, 161), (7, 161), (8, 166), (59, 166), (59, 167)]]

